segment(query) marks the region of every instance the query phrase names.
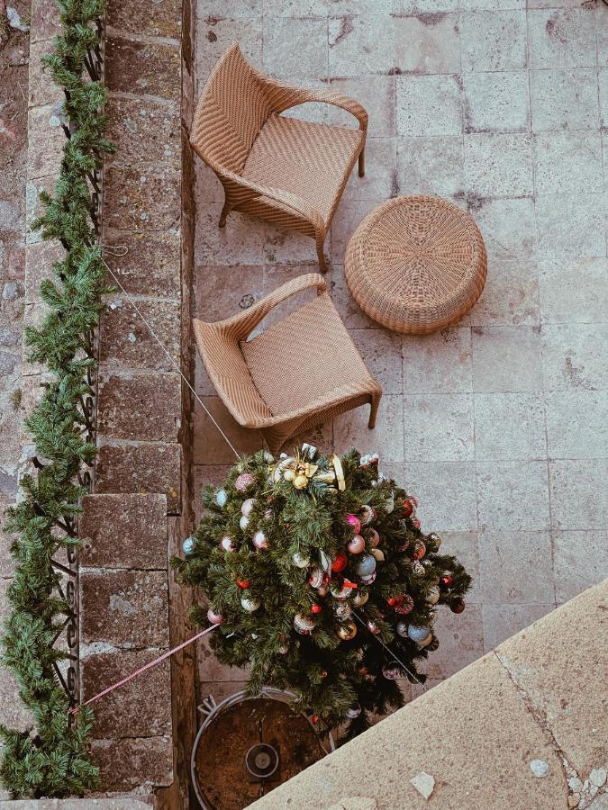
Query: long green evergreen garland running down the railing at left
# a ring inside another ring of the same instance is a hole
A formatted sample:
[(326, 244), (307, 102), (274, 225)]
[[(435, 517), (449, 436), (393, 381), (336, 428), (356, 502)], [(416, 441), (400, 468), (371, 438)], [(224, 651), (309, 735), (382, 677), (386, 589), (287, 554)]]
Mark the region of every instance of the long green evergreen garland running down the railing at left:
[(33, 728), (21, 733), (0, 726), (4, 744), (0, 779), (13, 797), (64, 797), (94, 788), (97, 769), (86, 749), (92, 715), (81, 710), (72, 724), (69, 701), (54, 664), (65, 658), (54, 641), (69, 612), (58, 594), (59, 573), (51, 560), (77, 545), (65, 531), (80, 512), (86, 490), (77, 482), (91, 464), (95, 446), (86, 440), (84, 410), (92, 393), (87, 372), (95, 366), (91, 333), (102, 310), (104, 265), (95, 244), (95, 170), (113, 151), (104, 138), (105, 89), (95, 72), (103, 0), (58, 0), (61, 34), (44, 58), (65, 93), (66, 146), (54, 195), (41, 193), (45, 211), (33, 223), (45, 239), (59, 239), (66, 256), (41, 283), (48, 314), (40, 329), (25, 329), (32, 362), (46, 365), (50, 382), (26, 428), (38, 458), (35, 473), (23, 476), (19, 502), (8, 509), (5, 531), (17, 533), (11, 546), (16, 563), (9, 589), (11, 615), (5, 622), (3, 660), (14, 672)]

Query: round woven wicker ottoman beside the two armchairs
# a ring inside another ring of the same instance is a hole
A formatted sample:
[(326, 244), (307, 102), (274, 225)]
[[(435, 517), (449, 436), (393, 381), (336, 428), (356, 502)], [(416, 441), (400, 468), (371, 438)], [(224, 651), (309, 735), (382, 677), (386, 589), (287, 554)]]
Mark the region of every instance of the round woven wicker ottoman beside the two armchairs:
[(465, 314), (484, 289), (475, 222), (440, 197), (395, 197), (352, 235), (344, 274), (359, 307), (387, 329), (423, 335)]

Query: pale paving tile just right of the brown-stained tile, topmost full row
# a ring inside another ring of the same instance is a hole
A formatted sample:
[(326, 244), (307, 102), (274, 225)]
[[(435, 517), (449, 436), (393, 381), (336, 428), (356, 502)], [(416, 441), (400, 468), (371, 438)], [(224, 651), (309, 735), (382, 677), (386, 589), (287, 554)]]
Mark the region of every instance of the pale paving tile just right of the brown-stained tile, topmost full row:
[(526, 14), (523, 11), (462, 14), (460, 39), (463, 73), (526, 67)]

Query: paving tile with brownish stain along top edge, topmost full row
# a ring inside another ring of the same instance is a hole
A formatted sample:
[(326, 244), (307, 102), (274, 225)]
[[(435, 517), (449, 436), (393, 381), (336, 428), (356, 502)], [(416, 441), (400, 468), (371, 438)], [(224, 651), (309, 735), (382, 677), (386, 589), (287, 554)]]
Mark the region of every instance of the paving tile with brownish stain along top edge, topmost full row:
[(398, 73), (460, 72), (458, 14), (395, 17), (393, 25)]

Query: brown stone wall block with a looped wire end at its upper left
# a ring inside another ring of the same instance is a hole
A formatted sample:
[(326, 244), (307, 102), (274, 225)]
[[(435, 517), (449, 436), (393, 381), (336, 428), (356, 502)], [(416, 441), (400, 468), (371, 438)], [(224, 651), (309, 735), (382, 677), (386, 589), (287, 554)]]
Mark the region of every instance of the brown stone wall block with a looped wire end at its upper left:
[[(179, 234), (104, 229), (104, 260), (127, 293), (178, 298), (181, 292)], [(124, 256), (116, 256), (123, 253)], [(111, 278), (111, 283), (115, 281)], [(120, 294), (120, 293), (119, 293)]]

